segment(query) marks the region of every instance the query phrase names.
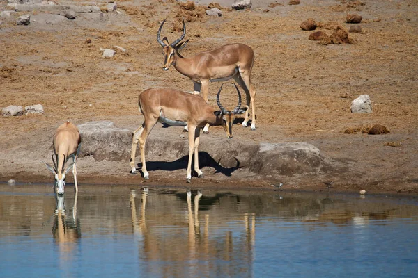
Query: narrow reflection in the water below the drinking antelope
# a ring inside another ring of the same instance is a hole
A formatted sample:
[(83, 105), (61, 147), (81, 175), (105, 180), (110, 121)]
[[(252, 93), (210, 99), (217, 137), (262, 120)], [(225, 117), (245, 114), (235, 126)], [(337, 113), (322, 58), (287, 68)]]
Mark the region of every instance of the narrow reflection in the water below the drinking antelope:
[(65, 208), (64, 195), (56, 195), (52, 236), (59, 246), (60, 262), (65, 264), (65, 261), (70, 260), (70, 255), (82, 236), (77, 218), (77, 193), (74, 195), (74, 203), (70, 209)]

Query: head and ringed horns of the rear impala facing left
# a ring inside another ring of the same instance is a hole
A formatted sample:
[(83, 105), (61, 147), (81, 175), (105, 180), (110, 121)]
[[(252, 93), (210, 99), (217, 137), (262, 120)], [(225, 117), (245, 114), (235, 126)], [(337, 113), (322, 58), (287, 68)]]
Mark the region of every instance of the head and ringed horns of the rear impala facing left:
[(164, 55), (164, 70), (169, 70), (169, 67), (176, 63), (176, 58), (178, 56), (178, 51), (180, 49), (183, 49), (189, 40), (186, 40), (185, 42), (181, 42), (183, 38), (185, 38), (186, 35), (186, 24), (185, 19), (183, 19), (183, 34), (180, 35), (180, 38), (169, 44), (169, 41), (167, 40), (167, 37), (162, 38), (161, 40), (161, 29), (164, 25), (165, 19), (163, 20), (162, 24), (160, 25), (160, 28), (158, 29), (157, 33), (157, 41), (162, 46), (162, 54)]

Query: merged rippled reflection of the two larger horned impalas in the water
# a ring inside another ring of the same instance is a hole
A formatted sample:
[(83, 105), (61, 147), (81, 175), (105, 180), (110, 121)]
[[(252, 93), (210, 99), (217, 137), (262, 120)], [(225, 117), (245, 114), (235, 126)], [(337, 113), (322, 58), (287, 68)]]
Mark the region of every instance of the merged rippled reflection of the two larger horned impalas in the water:
[[(213, 271), (240, 277), (251, 273), (248, 269), (240, 269), (236, 261), (247, 261), (248, 267), (252, 268), (256, 232), (254, 213), (242, 215), (244, 228), (242, 232), (242, 230), (237, 231), (236, 225), (229, 227), (228, 223), (223, 222), (224, 218), (217, 217), (220, 215), (218, 210), (210, 211), (210, 208), (213, 208), (212, 204), (219, 204), (219, 199), (222, 197), (206, 197), (203, 202), (205, 213), (199, 217), (199, 203), (203, 196), (201, 191), (197, 191), (194, 197), (190, 190), (187, 190), (186, 196), (184, 193), (177, 194), (177, 204), (171, 202), (171, 205), (179, 205), (179, 203), (181, 205), (178, 199), (184, 200), (184, 196), (187, 201), (187, 222), (183, 222), (181, 219), (175, 220), (178, 215), (167, 215), (162, 206), (156, 206), (160, 204), (156, 202), (159, 196), (148, 195), (147, 191), (141, 192), (141, 212), (137, 215), (136, 194), (135, 190), (131, 191), (130, 206), (132, 228), (134, 235), (138, 238), (140, 256), (148, 262), (172, 262), (172, 264), (159, 265), (158, 268), (147, 264), (150, 273), (163, 277), (184, 277), (185, 275), (199, 277), (205, 276), (204, 272), (213, 273)], [(150, 203), (150, 208), (147, 208), (147, 199), (149, 203), (150, 197), (153, 201)], [(234, 202), (234, 205), (239, 202), (232, 198), (226, 199)], [(148, 218), (146, 218), (147, 209)], [(173, 211), (176, 210), (173, 209)], [(163, 214), (160, 214), (161, 212)], [(170, 219), (168, 220), (169, 226), (164, 224), (164, 227), (161, 227), (162, 221), (167, 221), (167, 218)], [(201, 225), (203, 231), (201, 231)], [(184, 234), (185, 229), (187, 229), (187, 238)], [(219, 234), (224, 234), (224, 236), (219, 236)], [(229, 263), (219, 265), (217, 260), (229, 261)], [(209, 263), (201, 265), (201, 261)]]

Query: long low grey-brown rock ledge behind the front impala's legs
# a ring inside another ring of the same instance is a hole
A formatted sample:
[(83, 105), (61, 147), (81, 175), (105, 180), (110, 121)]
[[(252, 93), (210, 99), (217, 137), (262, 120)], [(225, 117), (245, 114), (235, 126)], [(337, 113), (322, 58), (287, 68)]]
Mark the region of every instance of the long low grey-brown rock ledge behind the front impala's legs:
[[(126, 161), (130, 159), (132, 131), (120, 129), (113, 122), (88, 122), (78, 126), (82, 134), (81, 156), (93, 156), (98, 161)], [(333, 162), (323, 156), (314, 145), (306, 142), (246, 143), (226, 138), (203, 138), (199, 145), (201, 167), (243, 168), (256, 174), (286, 175), (314, 174), (326, 171)], [(222, 147), (219, 147), (222, 146)], [(189, 154), (186, 138), (173, 139), (152, 133), (146, 141), (146, 161), (183, 163)], [(139, 145), (137, 161), (140, 163)]]

